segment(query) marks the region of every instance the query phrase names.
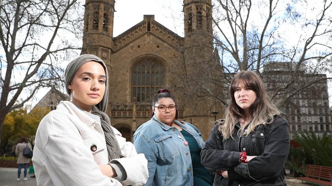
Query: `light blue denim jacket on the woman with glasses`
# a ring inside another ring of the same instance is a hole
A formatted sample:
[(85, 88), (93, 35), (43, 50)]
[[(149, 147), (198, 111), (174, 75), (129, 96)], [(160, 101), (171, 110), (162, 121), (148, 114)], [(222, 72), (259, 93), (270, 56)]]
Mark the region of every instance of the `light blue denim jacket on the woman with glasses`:
[[(193, 135), (203, 149), (204, 141), (196, 127), (187, 122), (174, 122)], [(149, 179), (146, 185), (193, 185), (191, 154), (184, 142), (179, 130), (165, 125), (156, 116), (136, 130), (135, 148), (148, 160)]]

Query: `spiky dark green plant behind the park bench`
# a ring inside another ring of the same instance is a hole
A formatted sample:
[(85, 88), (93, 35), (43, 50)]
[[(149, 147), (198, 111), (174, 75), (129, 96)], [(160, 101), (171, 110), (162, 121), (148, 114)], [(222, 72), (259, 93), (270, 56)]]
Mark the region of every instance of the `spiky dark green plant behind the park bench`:
[(286, 167), (304, 174), (306, 164), (332, 167), (332, 136), (314, 132), (298, 133), (294, 138), (299, 147), (291, 147)]

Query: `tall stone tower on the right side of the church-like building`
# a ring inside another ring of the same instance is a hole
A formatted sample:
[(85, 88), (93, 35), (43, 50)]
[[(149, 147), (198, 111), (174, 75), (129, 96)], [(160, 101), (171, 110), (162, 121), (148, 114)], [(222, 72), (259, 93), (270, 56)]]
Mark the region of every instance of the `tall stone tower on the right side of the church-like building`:
[[(185, 115), (193, 122), (204, 123), (215, 110), (215, 103), (202, 99), (216, 87), (214, 79), (216, 60), (213, 46), (211, 0), (184, 0), (183, 64), (185, 77)], [(195, 108), (195, 109), (191, 109)], [(190, 121), (190, 120), (189, 120)]]

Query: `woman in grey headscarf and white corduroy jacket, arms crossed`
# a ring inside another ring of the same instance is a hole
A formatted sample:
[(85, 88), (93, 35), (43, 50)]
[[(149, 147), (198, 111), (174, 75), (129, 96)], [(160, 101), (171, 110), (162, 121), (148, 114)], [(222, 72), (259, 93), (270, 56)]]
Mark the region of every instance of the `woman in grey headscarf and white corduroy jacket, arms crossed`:
[(147, 160), (111, 127), (105, 63), (80, 55), (66, 68), (70, 101), (39, 123), (32, 158), (37, 185), (143, 185)]

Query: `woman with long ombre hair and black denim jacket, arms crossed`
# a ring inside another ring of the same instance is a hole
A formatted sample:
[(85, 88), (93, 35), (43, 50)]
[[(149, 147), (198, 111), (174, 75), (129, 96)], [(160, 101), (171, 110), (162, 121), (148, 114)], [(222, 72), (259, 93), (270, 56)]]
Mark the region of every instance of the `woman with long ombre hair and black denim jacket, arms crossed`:
[(202, 165), (216, 171), (214, 185), (286, 185), (288, 121), (269, 99), (262, 79), (241, 71), (229, 86), (225, 120), (211, 131)]

